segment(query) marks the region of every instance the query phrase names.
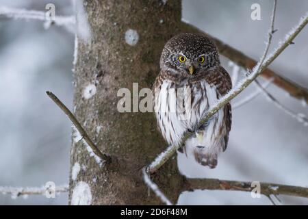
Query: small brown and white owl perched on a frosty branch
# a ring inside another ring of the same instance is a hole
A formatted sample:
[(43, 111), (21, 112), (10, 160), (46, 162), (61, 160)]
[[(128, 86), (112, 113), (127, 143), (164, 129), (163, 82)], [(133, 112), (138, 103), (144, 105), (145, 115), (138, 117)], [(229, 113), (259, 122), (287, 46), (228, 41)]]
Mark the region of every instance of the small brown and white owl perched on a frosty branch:
[(205, 112), (232, 87), (220, 66), (218, 49), (205, 34), (179, 34), (165, 45), (160, 73), (153, 84), (155, 116), (168, 144), (180, 146), (185, 131), (191, 131), (181, 153), (198, 164), (215, 168), (226, 150), (231, 129), (228, 103), (202, 127), (196, 127)]

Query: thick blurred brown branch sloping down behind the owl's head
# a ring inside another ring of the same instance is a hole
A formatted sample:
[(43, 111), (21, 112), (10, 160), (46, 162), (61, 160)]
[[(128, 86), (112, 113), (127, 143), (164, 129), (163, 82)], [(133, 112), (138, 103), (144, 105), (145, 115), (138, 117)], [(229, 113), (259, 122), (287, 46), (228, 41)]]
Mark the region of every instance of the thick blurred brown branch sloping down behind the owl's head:
[[(204, 33), (204, 31), (202, 31), (201, 29), (198, 29), (193, 25), (190, 25), (189, 23), (185, 23), (184, 21), (182, 21), (181, 31), (191, 32), (191, 33)], [(209, 34), (207, 35), (209, 36)], [(225, 44), (218, 38), (215, 38), (214, 36), (209, 36), (209, 37), (212, 40), (214, 40), (221, 55), (224, 55), (225, 57), (229, 58), (229, 60), (238, 64), (239, 66), (242, 66), (245, 69), (246, 68), (252, 69), (257, 64), (257, 61), (253, 60), (251, 57), (248, 57), (248, 55), (245, 55), (241, 51), (238, 51), (237, 49), (229, 46), (228, 44)], [(304, 88), (295, 83), (294, 81), (291, 81), (290, 79), (287, 79), (275, 73), (269, 68), (264, 69), (264, 71), (261, 73), (260, 76), (264, 77), (265, 79), (274, 78), (273, 83), (276, 86), (288, 92), (290, 96), (293, 96), (294, 98), (299, 99), (300, 101), (305, 101), (306, 103), (308, 103), (307, 88)]]

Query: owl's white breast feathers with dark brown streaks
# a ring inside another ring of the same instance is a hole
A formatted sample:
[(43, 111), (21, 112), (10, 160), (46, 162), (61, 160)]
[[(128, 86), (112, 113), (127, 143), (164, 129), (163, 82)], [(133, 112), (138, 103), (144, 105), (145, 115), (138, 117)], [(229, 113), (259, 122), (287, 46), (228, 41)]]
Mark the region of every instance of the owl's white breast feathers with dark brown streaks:
[[(183, 133), (201, 120), (203, 114), (220, 98), (216, 86), (205, 80), (177, 87), (172, 81), (165, 80), (161, 90), (155, 91), (155, 115), (162, 135), (168, 144), (179, 144)], [(205, 153), (217, 157), (222, 150), (221, 130), (224, 111), (221, 109), (205, 125), (186, 141), (187, 155)], [(202, 157), (202, 156), (201, 156)]]

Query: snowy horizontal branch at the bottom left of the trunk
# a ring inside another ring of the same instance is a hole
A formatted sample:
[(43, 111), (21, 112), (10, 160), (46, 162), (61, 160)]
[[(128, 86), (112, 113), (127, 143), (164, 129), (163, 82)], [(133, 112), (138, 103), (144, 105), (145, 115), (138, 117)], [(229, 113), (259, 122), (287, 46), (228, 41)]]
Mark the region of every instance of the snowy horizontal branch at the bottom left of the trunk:
[(62, 192), (68, 192), (68, 185), (57, 186), (55, 188), (42, 186), (42, 187), (11, 187), (11, 186), (0, 186), (0, 194), (10, 194), (12, 198), (17, 198), (18, 196), (24, 196), (25, 198), (29, 195), (44, 195), (51, 197), (53, 194), (60, 194)]

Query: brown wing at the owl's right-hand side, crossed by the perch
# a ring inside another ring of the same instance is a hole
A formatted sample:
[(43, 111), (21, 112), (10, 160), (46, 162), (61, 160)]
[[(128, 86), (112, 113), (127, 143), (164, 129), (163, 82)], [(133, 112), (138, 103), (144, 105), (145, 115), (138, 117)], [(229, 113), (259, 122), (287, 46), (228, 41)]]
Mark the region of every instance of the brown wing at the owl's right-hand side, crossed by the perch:
[[(224, 70), (220, 66), (220, 80), (222, 83), (217, 83), (218, 92), (222, 94), (227, 94), (229, 90), (232, 88), (232, 81), (230, 75), (227, 73), (227, 70)], [(222, 146), (222, 151), (227, 149), (227, 144), (229, 140), (229, 131), (231, 130), (231, 123), (232, 123), (232, 112), (231, 112), (231, 104), (227, 103), (224, 105), (224, 125), (226, 126), (226, 134), (224, 135), (224, 146)]]

